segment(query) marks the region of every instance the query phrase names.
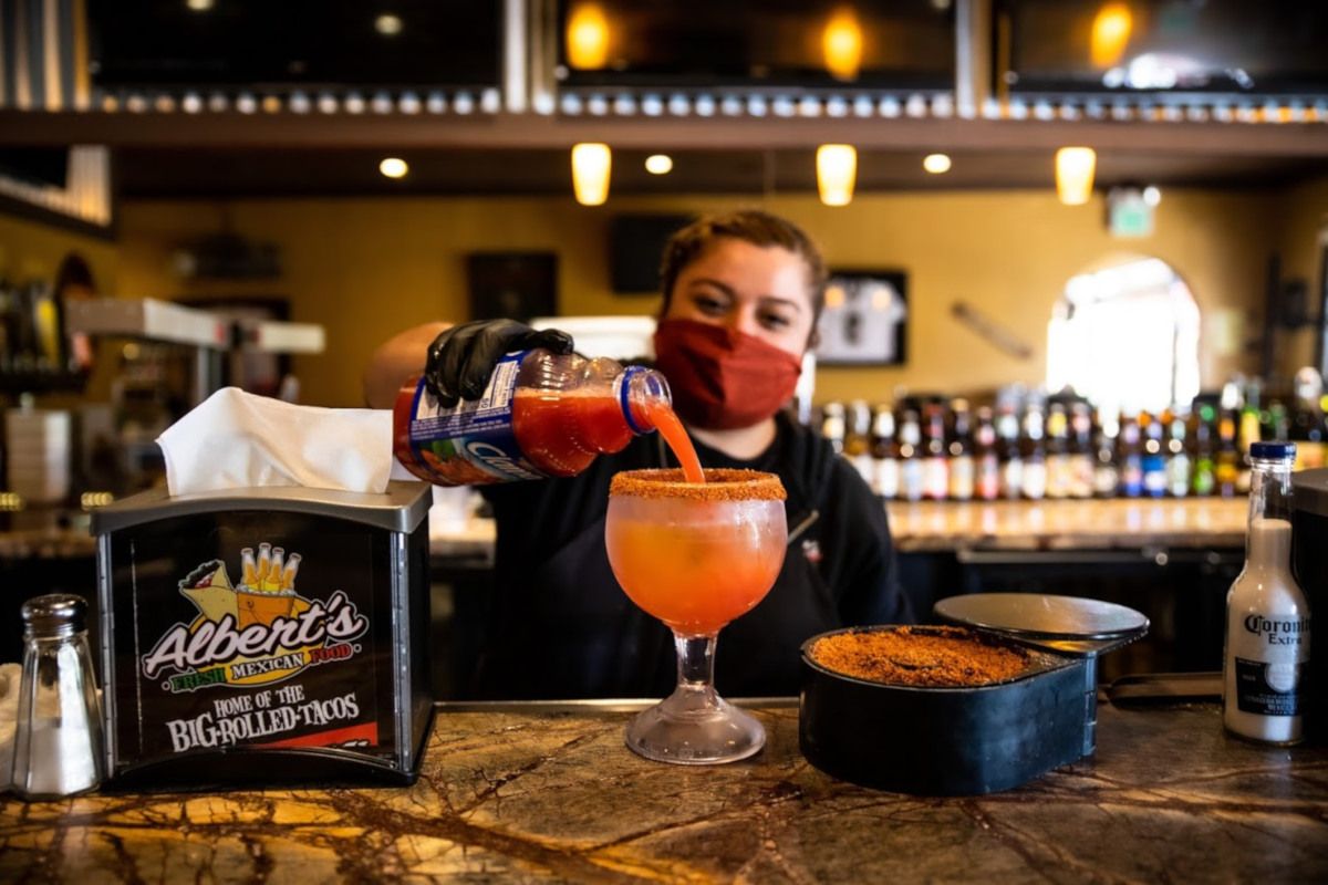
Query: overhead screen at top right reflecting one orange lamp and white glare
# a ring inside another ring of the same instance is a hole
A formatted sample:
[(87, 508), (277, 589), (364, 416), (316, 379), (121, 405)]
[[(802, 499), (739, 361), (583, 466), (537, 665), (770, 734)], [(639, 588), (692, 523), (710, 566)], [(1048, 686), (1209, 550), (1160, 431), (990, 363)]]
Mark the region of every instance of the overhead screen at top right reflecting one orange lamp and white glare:
[(1328, 90), (1321, 0), (996, 0), (1009, 93), (1308, 94)]

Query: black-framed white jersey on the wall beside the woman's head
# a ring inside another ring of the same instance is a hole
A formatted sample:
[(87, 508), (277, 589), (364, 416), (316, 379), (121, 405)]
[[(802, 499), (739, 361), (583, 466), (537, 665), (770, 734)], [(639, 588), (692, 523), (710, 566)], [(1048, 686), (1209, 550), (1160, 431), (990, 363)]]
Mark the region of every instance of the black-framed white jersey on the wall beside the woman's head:
[(903, 271), (831, 269), (817, 365), (894, 366), (906, 358), (908, 277)]

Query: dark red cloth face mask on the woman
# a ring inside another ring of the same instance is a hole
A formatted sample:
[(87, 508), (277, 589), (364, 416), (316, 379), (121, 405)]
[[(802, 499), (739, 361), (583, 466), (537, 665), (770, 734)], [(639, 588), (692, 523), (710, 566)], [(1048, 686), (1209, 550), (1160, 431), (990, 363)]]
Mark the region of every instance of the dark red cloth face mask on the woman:
[(770, 418), (793, 397), (802, 361), (757, 337), (696, 320), (660, 320), (655, 368), (673, 410), (704, 430), (736, 430)]

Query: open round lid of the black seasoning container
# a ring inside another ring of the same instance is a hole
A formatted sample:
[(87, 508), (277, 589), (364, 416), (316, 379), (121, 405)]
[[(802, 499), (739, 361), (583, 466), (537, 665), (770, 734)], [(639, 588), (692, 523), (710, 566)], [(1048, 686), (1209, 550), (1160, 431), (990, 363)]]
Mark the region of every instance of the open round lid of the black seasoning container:
[(1114, 602), (1042, 593), (971, 593), (940, 600), (938, 617), (1061, 654), (1090, 657), (1149, 632), (1139, 612)]

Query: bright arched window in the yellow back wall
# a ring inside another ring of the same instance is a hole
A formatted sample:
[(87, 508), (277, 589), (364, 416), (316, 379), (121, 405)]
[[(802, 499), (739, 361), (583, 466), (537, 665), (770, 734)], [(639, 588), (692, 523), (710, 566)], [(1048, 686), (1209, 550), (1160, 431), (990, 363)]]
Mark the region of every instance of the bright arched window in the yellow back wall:
[(1199, 393), (1199, 306), (1166, 261), (1131, 256), (1065, 284), (1046, 336), (1046, 387), (1154, 414)]

